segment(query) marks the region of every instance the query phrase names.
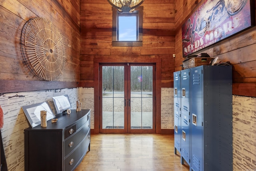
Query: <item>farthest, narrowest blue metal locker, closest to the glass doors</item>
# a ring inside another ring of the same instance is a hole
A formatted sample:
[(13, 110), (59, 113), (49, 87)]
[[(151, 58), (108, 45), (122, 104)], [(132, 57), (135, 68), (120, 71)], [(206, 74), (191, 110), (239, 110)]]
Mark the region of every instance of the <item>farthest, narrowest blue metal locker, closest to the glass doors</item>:
[(180, 125), (180, 103), (181, 103), (181, 91), (180, 91), (180, 71), (174, 72), (174, 153), (181, 154), (181, 125)]

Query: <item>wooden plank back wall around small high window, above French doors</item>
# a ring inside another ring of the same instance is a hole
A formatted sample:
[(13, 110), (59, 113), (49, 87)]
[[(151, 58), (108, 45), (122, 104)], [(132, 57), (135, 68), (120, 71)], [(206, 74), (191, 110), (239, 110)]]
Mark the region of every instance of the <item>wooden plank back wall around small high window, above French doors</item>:
[(94, 58), (161, 58), (161, 86), (173, 87), (174, 0), (145, 0), (143, 46), (112, 47), (112, 6), (107, 0), (81, 0), (81, 85), (94, 86)]

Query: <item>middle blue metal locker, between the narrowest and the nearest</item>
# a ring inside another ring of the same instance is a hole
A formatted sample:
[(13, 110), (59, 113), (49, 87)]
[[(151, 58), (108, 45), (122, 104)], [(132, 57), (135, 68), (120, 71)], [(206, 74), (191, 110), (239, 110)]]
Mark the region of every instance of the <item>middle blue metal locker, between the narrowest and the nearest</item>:
[(190, 69), (181, 71), (181, 163), (190, 165)]

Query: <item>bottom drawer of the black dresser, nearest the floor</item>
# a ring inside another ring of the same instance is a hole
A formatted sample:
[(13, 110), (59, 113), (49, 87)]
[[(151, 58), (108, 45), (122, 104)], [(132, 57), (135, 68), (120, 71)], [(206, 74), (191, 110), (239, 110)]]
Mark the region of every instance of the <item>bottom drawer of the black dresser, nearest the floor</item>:
[(83, 139), (80, 145), (64, 159), (64, 170), (72, 171), (83, 159), (87, 153), (87, 149), (90, 144), (90, 131), (88, 135)]

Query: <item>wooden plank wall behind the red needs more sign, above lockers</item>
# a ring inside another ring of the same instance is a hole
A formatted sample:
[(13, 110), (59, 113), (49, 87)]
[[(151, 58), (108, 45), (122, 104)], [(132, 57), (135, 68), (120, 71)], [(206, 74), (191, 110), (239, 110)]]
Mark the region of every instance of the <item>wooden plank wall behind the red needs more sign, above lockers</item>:
[[(181, 26), (204, 0), (176, 0), (175, 7), (175, 70), (181, 70), (182, 32)], [(254, 8), (255, 9), (255, 8)], [(256, 27), (218, 42), (196, 54), (208, 53), (222, 61), (233, 64), (233, 94), (256, 97)]]

